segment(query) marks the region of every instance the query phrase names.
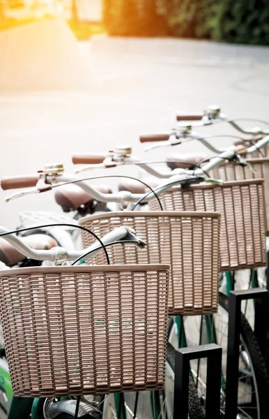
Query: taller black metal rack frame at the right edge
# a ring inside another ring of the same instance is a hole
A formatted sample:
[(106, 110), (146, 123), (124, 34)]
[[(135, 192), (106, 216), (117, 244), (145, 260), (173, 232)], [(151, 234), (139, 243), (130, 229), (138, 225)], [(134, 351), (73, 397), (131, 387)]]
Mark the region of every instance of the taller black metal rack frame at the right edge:
[(229, 419), (237, 417), (238, 399), (238, 360), (240, 345), (241, 302), (255, 300), (254, 333), (261, 353), (266, 355), (266, 333), (268, 330), (268, 290), (251, 288), (246, 291), (229, 293), (229, 330), (226, 364), (226, 406), (225, 416)]

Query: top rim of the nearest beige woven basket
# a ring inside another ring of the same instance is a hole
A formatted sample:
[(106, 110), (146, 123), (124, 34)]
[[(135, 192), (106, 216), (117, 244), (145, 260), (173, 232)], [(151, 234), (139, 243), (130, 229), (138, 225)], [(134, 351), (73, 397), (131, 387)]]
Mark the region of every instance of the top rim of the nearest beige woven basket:
[(16, 269), (1, 270), (2, 277), (13, 277), (17, 274), (63, 274), (68, 273), (88, 273), (88, 272), (128, 272), (128, 271), (169, 271), (171, 266), (164, 263), (148, 263), (134, 265), (74, 265), (74, 266), (31, 266), (17, 267)]

